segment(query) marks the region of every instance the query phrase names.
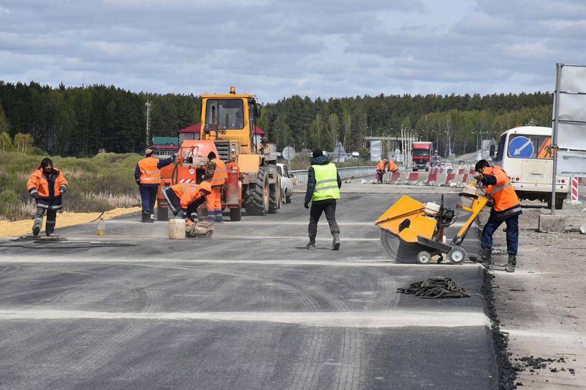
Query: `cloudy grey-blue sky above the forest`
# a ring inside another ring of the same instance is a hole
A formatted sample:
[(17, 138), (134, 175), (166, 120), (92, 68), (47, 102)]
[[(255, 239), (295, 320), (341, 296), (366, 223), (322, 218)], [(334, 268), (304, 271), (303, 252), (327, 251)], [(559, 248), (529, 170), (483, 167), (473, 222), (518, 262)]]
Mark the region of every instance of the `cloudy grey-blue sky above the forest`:
[(584, 0), (0, 0), (0, 80), (275, 102), (553, 91)]

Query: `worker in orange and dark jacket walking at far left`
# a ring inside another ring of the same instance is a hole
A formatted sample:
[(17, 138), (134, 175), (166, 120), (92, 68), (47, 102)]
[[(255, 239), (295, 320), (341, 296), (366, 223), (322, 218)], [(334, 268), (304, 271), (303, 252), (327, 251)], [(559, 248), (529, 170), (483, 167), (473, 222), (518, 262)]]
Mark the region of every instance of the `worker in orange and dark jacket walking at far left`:
[(33, 235), (38, 235), (43, 225), (43, 215), (47, 210), (47, 221), (45, 223), (45, 234), (52, 235), (57, 220), (57, 210), (63, 208), (62, 197), (67, 191), (67, 180), (63, 172), (53, 167), (50, 158), (44, 158), (35, 172), (29, 177), (26, 183), (30, 196), (35, 198), (36, 213), (33, 224)]

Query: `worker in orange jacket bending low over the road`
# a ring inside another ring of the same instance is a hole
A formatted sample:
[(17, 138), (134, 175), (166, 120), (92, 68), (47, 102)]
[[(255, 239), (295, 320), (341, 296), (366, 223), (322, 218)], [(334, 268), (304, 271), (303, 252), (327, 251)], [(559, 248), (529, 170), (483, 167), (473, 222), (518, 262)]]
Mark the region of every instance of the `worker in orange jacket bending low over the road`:
[(187, 214), (187, 218), (194, 221), (197, 218), (197, 207), (206, 201), (211, 192), (212, 186), (208, 182), (179, 183), (163, 190), (163, 196), (175, 218), (186, 218)]

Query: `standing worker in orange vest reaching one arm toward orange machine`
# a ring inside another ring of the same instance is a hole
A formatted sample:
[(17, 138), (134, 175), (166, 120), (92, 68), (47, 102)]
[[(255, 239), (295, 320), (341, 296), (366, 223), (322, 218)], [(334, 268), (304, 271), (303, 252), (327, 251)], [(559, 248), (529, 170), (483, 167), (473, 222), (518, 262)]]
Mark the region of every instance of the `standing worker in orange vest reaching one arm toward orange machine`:
[(134, 170), (134, 180), (138, 184), (142, 199), (142, 222), (155, 221), (156, 193), (161, 184), (161, 168), (175, 161), (176, 155), (167, 159), (152, 156), (152, 149), (145, 150), (145, 158), (139, 160)]

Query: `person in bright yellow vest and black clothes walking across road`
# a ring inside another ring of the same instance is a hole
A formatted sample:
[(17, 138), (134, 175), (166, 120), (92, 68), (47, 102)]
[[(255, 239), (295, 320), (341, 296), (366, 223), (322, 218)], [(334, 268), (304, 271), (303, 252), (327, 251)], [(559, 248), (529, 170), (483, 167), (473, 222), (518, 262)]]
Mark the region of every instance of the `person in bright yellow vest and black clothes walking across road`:
[(342, 180), (336, 166), (321, 149), (315, 149), (307, 175), (307, 191), (305, 192), (305, 208), (309, 208), (309, 243), (307, 249), (315, 249), (315, 236), (318, 234), (318, 221), (322, 213), (326, 214), (330, 232), (332, 233), (332, 251), (340, 248), (340, 228), (336, 223), (336, 199), (340, 199)]

